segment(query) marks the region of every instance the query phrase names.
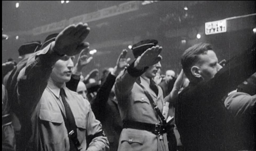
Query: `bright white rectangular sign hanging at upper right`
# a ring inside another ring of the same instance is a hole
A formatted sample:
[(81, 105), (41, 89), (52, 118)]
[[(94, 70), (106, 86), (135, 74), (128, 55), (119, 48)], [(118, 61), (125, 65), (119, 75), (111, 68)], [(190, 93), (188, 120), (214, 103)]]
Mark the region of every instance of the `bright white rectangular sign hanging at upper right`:
[(205, 23), (206, 35), (226, 32), (226, 20)]

